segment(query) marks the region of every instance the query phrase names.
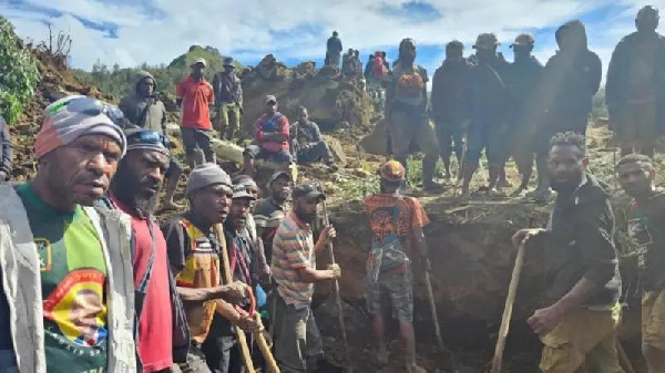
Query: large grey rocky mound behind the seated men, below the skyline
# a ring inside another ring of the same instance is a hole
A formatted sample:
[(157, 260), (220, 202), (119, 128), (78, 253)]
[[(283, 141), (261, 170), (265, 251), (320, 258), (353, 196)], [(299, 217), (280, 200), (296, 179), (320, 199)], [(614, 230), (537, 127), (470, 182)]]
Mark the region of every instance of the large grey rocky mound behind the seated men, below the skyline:
[(304, 105), (309, 116), (324, 129), (369, 125), (375, 116), (371, 100), (355, 82), (341, 81), (339, 73), (316, 70), (314, 62), (288, 69), (268, 54), (254, 69), (242, 74), (245, 114), (244, 128), (249, 132), (263, 113), (265, 95), (279, 101), (280, 111), (295, 118), (296, 108)]

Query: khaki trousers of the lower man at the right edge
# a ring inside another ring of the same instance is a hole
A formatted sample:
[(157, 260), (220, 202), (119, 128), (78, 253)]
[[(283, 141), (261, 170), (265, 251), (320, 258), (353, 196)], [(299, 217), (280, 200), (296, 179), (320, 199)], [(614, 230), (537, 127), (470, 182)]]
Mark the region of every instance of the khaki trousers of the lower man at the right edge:
[(665, 289), (642, 296), (642, 344), (665, 350)]

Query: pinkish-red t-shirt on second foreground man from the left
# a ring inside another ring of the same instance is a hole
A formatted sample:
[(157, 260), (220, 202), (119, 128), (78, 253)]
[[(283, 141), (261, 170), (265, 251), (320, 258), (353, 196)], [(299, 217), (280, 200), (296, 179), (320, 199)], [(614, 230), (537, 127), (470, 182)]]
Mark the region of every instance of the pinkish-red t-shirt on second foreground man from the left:
[[(131, 208), (116, 198), (113, 204), (132, 217), (134, 232), (134, 287), (139, 287), (152, 250), (152, 238), (147, 220), (135, 216)], [(139, 356), (143, 363), (143, 372), (152, 373), (171, 367), (173, 364), (173, 314), (171, 310), (171, 291), (168, 287), (168, 260), (166, 259), (166, 240), (160, 226), (153, 222), (153, 235), (156, 240), (155, 261), (147, 286), (147, 294), (143, 301), (143, 311), (139, 320)]]

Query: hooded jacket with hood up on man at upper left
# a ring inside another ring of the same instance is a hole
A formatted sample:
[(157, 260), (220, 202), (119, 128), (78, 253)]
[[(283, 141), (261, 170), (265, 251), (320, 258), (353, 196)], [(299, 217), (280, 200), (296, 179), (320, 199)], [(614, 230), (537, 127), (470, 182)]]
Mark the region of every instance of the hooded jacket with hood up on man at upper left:
[(134, 92), (124, 96), (117, 107), (120, 107), (125, 120), (131, 124), (145, 129), (165, 133), (166, 108), (164, 104), (155, 94), (150, 97), (143, 97), (139, 94), (139, 83), (144, 79), (152, 79), (155, 83), (155, 91), (157, 90), (155, 77), (146, 71), (140, 71), (134, 81)]

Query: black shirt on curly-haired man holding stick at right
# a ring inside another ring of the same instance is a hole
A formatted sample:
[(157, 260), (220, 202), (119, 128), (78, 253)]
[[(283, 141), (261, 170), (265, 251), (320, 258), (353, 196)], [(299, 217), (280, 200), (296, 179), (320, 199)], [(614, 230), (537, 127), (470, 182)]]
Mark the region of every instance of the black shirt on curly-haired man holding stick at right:
[(610, 196), (585, 175), (573, 193), (556, 197), (548, 225), (548, 297), (557, 301), (584, 277), (601, 289), (584, 305), (610, 305), (621, 292)]

